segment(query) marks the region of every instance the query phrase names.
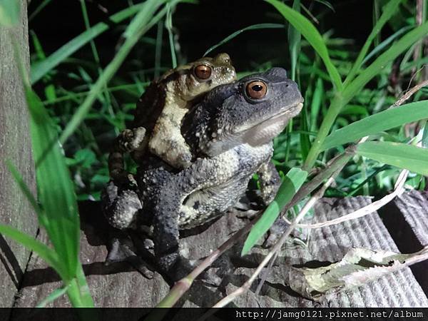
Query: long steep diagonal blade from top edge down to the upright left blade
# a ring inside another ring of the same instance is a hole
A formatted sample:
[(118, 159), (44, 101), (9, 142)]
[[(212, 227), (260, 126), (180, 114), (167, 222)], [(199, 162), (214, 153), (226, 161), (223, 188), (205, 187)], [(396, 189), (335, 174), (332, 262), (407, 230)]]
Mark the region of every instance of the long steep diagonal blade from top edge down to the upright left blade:
[[(121, 66), (125, 58), (130, 53), (133, 46), (138, 42), (138, 39), (143, 36), (151, 27), (158, 23), (160, 19), (166, 14), (166, 8), (163, 7), (161, 11), (153, 17), (153, 14), (156, 12), (159, 6), (163, 4), (165, 0), (148, 0), (144, 2), (145, 6), (141, 7), (141, 11), (134, 17), (131, 24), (126, 29), (126, 41), (121, 46), (121, 49), (114, 56), (113, 60), (108, 63), (108, 66), (104, 69), (101, 76), (98, 77), (96, 83), (89, 91), (88, 96), (86, 96), (85, 101), (77, 109), (76, 113), (73, 114), (73, 117), (68, 122), (66, 128), (64, 128), (59, 141), (61, 143), (65, 142), (69, 136), (76, 130), (80, 125), (83, 119), (86, 117), (88, 111), (91, 109), (92, 104), (96, 101), (96, 98), (103, 90), (106, 83), (110, 81), (111, 77), (118, 71), (118, 68)], [(173, 1), (171, 4), (176, 4), (180, 1)], [(131, 32), (132, 31), (132, 32)]]

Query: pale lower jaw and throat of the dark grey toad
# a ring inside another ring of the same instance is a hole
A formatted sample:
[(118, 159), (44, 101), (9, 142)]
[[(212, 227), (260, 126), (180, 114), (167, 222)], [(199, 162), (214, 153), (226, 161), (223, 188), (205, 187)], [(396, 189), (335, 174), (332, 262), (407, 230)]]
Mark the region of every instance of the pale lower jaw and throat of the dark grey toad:
[(240, 128), (238, 136), (244, 143), (248, 143), (251, 146), (260, 146), (271, 141), (274, 137), (278, 136), (288, 121), (291, 118), (300, 113), (303, 103), (296, 103), (294, 106), (287, 106), (287, 109), (277, 113), (264, 121), (253, 124), (253, 126), (245, 126), (246, 128)]

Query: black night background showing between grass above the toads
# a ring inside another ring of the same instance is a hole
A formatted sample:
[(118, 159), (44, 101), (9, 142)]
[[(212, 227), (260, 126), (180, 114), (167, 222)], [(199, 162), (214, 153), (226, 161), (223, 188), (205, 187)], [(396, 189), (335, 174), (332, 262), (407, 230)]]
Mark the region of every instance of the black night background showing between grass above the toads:
[[(34, 10), (42, 0), (33, 0), (29, 11)], [(330, 1), (335, 12), (316, 1), (302, 1), (311, 12), (319, 14), (322, 19), (317, 24), (320, 31), (332, 29), (335, 38), (347, 38), (361, 47), (372, 29), (371, 0)], [(291, 1), (286, 1), (291, 5)], [(91, 25), (99, 21), (108, 21), (107, 17), (126, 5), (124, 0), (93, 0), (86, 1)], [(104, 13), (99, 6), (108, 10)], [(262, 0), (201, 0), (199, 4), (179, 4), (173, 15), (173, 26), (178, 36), (181, 49), (178, 58), (193, 61), (218, 41), (251, 24), (284, 23), (275, 9)], [(46, 55), (85, 30), (81, 4), (79, 0), (53, 0), (40, 14), (30, 21), (29, 27), (41, 39)], [(388, 31), (388, 29), (386, 28)], [(106, 64), (114, 55), (119, 36), (123, 30), (109, 29), (96, 38), (96, 46), (100, 53), (101, 63)], [(146, 36), (156, 37), (156, 28)], [(168, 49), (168, 35), (164, 30), (163, 45)], [(273, 46), (273, 48), (272, 48)], [(137, 46), (138, 47), (138, 46)], [(269, 49), (269, 50), (266, 50)], [(273, 50), (275, 49), (275, 50)], [(153, 66), (153, 50), (138, 51), (149, 66)], [(288, 54), (286, 29), (263, 29), (247, 31), (233, 41), (221, 46), (217, 51), (228, 52), (237, 70), (248, 70), (251, 63), (285, 63), (282, 55)], [(168, 50), (164, 51), (163, 65), (170, 66)], [(278, 54), (276, 54), (278, 53)], [(91, 51), (88, 46), (73, 56), (87, 58)], [(275, 56), (273, 56), (275, 55)]]

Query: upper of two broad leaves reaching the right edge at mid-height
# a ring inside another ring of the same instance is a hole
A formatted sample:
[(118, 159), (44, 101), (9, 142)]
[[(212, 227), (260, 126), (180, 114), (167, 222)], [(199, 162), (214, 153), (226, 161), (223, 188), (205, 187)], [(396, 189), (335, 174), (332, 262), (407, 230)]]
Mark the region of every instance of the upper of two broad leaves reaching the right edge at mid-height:
[(396, 108), (389, 108), (360, 121), (355, 121), (348, 126), (340, 128), (338, 131), (333, 131), (325, 138), (322, 150), (325, 151), (326, 149), (424, 118), (428, 118), (428, 101), (417, 101), (416, 103), (407, 103)]

